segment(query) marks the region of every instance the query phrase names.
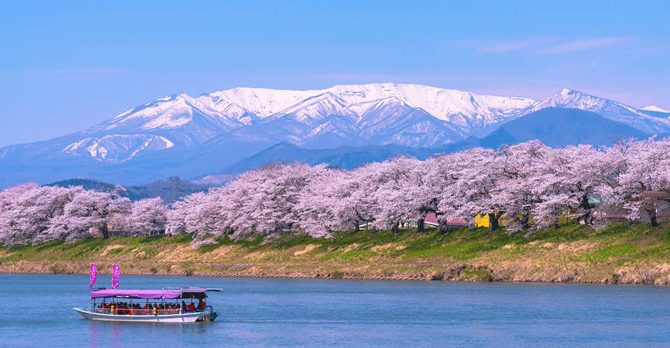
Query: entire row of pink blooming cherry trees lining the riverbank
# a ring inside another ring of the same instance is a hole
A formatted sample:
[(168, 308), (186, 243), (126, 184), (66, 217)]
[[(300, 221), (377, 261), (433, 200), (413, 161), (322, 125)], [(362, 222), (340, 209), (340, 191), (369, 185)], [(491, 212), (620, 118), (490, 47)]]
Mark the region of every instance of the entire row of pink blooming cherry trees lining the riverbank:
[[(440, 229), (459, 217), (488, 216), (491, 231), (558, 227), (565, 218), (593, 224), (595, 212), (627, 219), (657, 214), (670, 202), (670, 139), (548, 148), (539, 141), (472, 148), (425, 161), (396, 157), (354, 171), (325, 165), (271, 164), (223, 187), (194, 193), (170, 208), (160, 198), (131, 203), (119, 191), (22, 184), (0, 192), (0, 243), (65, 241), (103, 235), (107, 226), (135, 234), (167, 230), (196, 241), (208, 235), (423, 228), (435, 212)], [(602, 214), (601, 214), (602, 215)]]

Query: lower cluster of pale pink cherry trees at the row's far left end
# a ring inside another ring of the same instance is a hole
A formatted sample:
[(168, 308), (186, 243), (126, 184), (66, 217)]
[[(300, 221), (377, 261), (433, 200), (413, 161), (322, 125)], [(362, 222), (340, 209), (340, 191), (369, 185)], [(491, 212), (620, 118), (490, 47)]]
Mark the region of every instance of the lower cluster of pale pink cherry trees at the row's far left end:
[(131, 203), (123, 189), (98, 192), (82, 187), (40, 187), (20, 184), (0, 192), (0, 244), (43, 243), (54, 239), (108, 237), (109, 226), (133, 234), (163, 231), (165, 212), (161, 198)]

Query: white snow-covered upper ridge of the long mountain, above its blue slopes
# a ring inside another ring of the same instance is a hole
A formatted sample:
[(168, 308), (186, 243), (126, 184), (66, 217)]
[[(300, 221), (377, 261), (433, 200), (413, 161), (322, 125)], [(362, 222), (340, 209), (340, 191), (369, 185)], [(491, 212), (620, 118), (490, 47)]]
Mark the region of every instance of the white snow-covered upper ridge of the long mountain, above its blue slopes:
[[(184, 93), (163, 97), (126, 111), (88, 132), (111, 131), (124, 125), (131, 126), (142, 119), (151, 120), (145, 121), (143, 129), (173, 129), (185, 125), (193, 110), (230, 130), (259, 120), (272, 120), (283, 114), (295, 113), (301, 104), (323, 95), (330, 95), (335, 104), (339, 104), (331, 111), (394, 97), (412, 107), (424, 109), (439, 120), (473, 129), (473, 134), (477, 133), (479, 127), (499, 122), (500, 115), (509, 115), (533, 103), (533, 100), (522, 97), (476, 95), (408, 84), (334, 86), (325, 90), (306, 91), (234, 88), (198, 97)], [(310, 115), (310, 112), (308, 109), (302, 111), (304, 116)]]

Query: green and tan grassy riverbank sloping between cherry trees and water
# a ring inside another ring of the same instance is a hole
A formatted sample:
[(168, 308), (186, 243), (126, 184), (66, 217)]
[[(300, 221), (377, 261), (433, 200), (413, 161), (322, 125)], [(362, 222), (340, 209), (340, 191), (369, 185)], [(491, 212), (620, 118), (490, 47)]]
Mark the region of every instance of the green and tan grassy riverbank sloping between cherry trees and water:
[(670, 284), (670, 231), (646, 223), (602, 230), (580, 225), (530, 237), (487, 229), (340, 232), (332, 239), (284, 236), (198, 249), (188, 235), (85, 239), (0, 248), (0, 273), (260, 276), (412, 280)]

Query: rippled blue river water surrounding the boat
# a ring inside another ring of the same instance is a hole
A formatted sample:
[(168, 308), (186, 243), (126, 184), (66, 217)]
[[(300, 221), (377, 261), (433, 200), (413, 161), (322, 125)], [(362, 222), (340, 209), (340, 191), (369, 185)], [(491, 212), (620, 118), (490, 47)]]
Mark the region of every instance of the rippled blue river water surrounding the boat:
[(87, 285), (0, 274), (0, 347), (670, 347), (670, 287), (122, 275), (223, 289), (216, 322), (124, 324), (72, 309)]

